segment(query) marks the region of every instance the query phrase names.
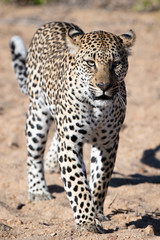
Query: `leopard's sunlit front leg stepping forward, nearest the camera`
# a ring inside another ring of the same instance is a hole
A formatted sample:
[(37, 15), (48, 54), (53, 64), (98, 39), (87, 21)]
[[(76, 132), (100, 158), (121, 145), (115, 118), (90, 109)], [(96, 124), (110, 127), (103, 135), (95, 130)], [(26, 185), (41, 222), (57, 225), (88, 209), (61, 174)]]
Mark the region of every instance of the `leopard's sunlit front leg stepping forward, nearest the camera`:
[(70, 139), (59, 136), (59, 164), (64, 188), (74, 212), (76, 228), (91, 232), (103, 232), (101, 223), (96, 219), (96, 212), (82, 162), (82, 147), (78, 138)]

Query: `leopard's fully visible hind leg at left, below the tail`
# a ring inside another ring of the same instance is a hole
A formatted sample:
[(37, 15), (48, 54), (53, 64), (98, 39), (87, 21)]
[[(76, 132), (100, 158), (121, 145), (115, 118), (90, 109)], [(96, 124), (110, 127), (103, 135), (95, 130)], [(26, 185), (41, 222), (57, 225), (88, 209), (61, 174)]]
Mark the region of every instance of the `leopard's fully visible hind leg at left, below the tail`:
[(45, 106), (39, 102), (31, 102), (26, 123), (28, 199), (31, 201), (52, 198), (46, 185), (43, 170), (43, 156), (50, 122), (51, 116)]

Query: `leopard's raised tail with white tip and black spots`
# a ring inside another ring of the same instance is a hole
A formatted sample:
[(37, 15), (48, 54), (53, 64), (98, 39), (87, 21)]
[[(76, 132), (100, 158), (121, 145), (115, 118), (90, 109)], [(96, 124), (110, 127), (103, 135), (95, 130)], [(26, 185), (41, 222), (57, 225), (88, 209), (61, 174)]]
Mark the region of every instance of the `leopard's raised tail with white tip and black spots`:
[(10, 48), (12, 54), (12, 66), (16, 73), (19, 87), (25, 95), (28, 95), (26, 75), (26, 47), (23, 40), (19, 36), (13, 36), (10, 40)]

